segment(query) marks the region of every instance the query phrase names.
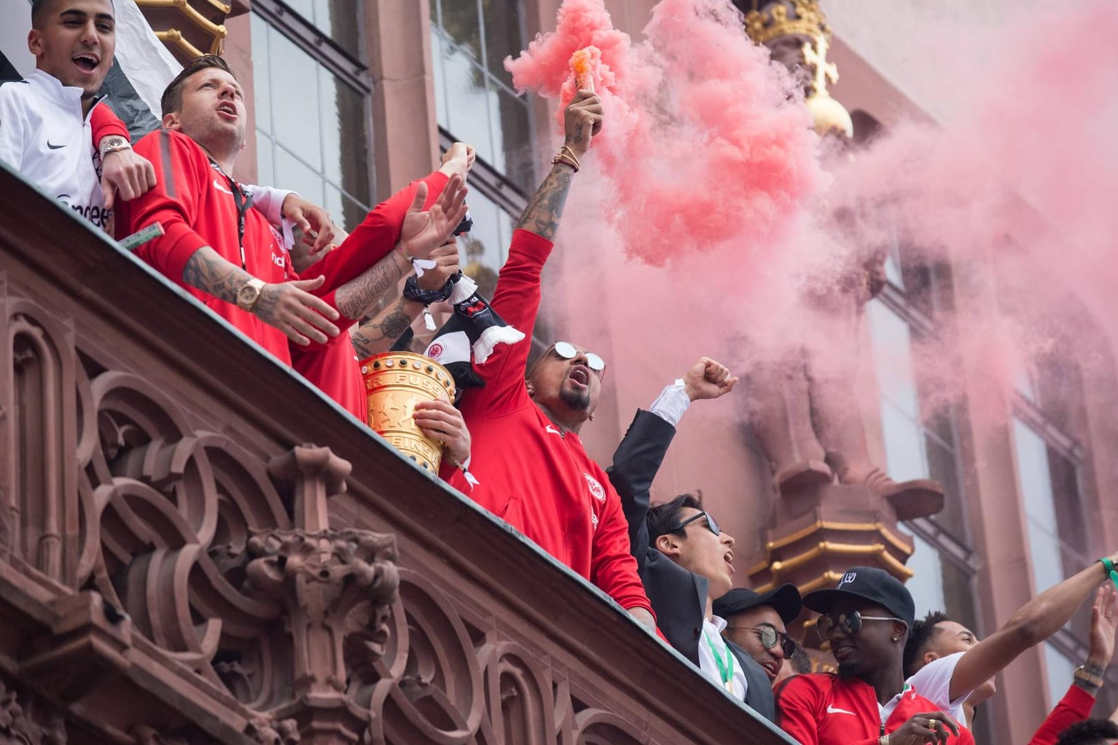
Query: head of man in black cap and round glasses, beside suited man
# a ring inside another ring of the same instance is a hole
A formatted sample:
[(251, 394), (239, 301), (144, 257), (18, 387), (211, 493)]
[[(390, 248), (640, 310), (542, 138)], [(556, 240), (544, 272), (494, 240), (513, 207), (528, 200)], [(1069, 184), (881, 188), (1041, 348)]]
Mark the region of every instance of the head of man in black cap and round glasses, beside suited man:
[(787, 624), (803, 609), (799, 590), (781, 584), (765, 593), (736, 588), (714, 601), (714, 615), (726, 619), (722, 637), (739, 657), (748, 655), (761, 666), (771, 686), (786, 660), (796, 652)]

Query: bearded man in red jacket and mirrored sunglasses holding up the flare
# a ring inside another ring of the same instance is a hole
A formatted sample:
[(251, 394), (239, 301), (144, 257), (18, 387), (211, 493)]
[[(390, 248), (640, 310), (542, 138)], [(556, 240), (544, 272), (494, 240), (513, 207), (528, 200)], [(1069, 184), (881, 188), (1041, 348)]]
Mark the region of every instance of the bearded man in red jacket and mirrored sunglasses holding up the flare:
[(620, 499), (578, 437), (598, 403), (605, 363), (580, 346), (559, 342), (528, 371), (525, 381), (540, 271), (551, 254), (579, 159), (600, 126), (601, 101), (579, 92), (565, 115), (563, 150), (517, 225), (491, 303), (528, 338), (499, 345), (485, 364), (476, 365), (485, 386), (468, 391), (462, 401), (473, 439), (470, 470), (480, 485), (471, 490), (451, 465), (443, 472), (655, 630), (629, 553)]

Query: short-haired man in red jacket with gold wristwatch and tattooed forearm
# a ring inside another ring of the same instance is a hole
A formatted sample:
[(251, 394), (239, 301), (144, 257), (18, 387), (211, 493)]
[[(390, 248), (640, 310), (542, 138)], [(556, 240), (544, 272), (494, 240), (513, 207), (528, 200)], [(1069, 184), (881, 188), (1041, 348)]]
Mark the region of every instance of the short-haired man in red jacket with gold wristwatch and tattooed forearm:
[[(366, 273), (391, 243), (366, 242), (367, 231), (356, 230), (344, 250), (315, 265), (313, 279), (302, 279), (283, 241), (248, 209), (229, 175), (244, 142), (245, 105), (224, 60), (203, 56), (188, 65), (164, 93), (163, 111), (163, 128), (136, 144), (155, 165), (158, 185), (125, 203), (117, 225), (126, 235), (162, 223), (165, 235), (141, 247), (141, 258), (288, 364), (288, 340), (325, 344), (339, 325), (372, 307), (383, 290)], [(426, 185), (417, 197), (419, 189)], [(464, 195), (462, 178), (452, 176), (428, 210), (427, 233), (438, 235), (425, 246), (437, 247), (453, 231), (465, 213)], [(334, 359), (353, 364), (351, 356)]]

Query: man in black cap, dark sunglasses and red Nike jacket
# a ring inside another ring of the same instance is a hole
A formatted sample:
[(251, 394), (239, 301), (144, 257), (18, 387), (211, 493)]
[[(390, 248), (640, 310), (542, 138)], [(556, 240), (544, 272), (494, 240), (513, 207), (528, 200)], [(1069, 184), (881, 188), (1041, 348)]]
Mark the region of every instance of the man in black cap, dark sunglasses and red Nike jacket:
[(969, 730), (904, 681), (912, 595), (888, 572), (855, 566), (804, 605), (822, 613), (839, 675), (809, 672), (777, 691), (777, 722), (803, 745), (973, 745)]

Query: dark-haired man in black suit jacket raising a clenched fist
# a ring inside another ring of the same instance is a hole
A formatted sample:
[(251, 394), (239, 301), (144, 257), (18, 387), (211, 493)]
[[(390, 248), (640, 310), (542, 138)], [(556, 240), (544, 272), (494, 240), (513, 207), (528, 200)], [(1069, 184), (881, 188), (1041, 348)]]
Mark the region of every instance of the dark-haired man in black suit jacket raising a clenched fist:
[(737, 381), (723, 365), (699, 360), (664, 389), (650, 411), (637, 411), (607, 472), (620, 495), (633, 555), (661, 633), (712, 682), (775, 720), (768, 677), (752, 658), (722, 640), (726, 622), (711, 611), (714, 599), (732, 585), (733, 538), (691, 495), (650, 508), (652, 481), (688, 405), (724, 395)]

